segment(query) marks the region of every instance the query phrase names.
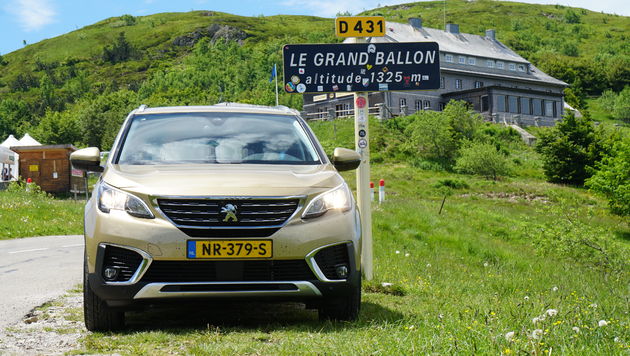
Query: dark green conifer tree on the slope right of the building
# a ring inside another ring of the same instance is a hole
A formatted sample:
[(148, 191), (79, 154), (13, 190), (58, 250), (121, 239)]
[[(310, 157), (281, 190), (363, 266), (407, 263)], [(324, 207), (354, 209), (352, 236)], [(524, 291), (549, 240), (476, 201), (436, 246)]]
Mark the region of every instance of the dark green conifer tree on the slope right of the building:
[(540, 135), (536, 151), (543, 156), (543, 170), (550, 182), (583, 185), (605, 148), (602, 132), (593, 122), (572, 112), (553, 129)]

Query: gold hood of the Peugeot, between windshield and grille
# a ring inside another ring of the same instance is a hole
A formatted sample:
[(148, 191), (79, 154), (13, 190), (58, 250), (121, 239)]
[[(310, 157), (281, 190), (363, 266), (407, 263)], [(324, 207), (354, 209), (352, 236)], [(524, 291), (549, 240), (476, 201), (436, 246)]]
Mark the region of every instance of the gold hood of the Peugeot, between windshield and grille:
[(109, 165), (107, 184), (147, 196), (308, 195), (343, 182), (324, 165)]

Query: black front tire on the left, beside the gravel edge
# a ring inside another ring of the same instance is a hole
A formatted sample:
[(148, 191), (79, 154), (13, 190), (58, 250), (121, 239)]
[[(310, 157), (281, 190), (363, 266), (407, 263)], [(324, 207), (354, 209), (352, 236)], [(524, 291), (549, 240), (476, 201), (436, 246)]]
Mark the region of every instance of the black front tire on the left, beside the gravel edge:
[(125, 326), (125, 313), (110, 308), (92, 291), (88, 280), (87, 262), (83, 267), (83, 317), (89, 331), (115, 331)]

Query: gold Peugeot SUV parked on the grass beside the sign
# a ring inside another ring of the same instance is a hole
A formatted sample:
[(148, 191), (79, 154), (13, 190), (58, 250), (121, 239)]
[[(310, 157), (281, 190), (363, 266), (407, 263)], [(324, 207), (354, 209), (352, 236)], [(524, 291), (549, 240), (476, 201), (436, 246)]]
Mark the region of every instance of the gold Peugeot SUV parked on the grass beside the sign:
[(361, 229), (340, 170), (295, 110), (244, 104), (141, 106), (104, 167), (97, 148), (75, 168), (102, 171), (85, 206), (88, 330), (160, 301), (298, 300), (320, 318), (361, 304)]

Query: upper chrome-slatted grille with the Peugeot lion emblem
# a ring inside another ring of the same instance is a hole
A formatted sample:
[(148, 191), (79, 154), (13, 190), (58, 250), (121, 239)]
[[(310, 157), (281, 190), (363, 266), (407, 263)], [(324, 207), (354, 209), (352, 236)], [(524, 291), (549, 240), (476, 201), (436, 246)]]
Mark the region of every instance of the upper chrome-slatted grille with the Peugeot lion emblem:
[(189, 236), (266, 237), (295, 213), (300, 200), (160, 198), (157, 203), (160, 210)]

